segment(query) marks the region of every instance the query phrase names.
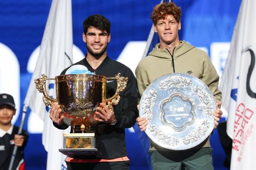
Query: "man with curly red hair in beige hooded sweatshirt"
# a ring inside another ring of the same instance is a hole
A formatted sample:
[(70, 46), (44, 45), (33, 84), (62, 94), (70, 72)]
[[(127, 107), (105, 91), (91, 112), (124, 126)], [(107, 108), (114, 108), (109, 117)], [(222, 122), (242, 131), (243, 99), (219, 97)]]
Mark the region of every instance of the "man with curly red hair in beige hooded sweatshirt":
[[(214, 122), (218, 125), (221, 118), (221, 91), (218, 89), (219, 76), (210, 62), (209, 56), (202, 50), (185, 41), (179, 40), (181, 29), (181, 9), (174, 3), (162, 3), (155, 6), (151, 19), (160, 43), (136, 68), (136, 77), (140, 95), (155, 79), (173, 72), (193, 75), (202, 80), (214, 94), (217, 109)], [(141, 131), (146, 129), (147, 119), (138, 117), (137, 124)], [(160, 147), (151, 141), (150, 154), (153, 169), (214, 169), (212, 148), (209, 137), (195, 148), (185, 151), (172, 151)]]

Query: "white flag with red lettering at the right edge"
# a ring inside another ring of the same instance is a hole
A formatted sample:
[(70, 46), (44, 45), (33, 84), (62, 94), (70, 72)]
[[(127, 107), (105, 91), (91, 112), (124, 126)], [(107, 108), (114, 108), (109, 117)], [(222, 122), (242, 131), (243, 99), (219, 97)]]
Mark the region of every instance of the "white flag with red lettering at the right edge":
[(256, 153), (256, 1), (243, 0), (220, 89), (233, 139), (230, 169), (255, 169)]

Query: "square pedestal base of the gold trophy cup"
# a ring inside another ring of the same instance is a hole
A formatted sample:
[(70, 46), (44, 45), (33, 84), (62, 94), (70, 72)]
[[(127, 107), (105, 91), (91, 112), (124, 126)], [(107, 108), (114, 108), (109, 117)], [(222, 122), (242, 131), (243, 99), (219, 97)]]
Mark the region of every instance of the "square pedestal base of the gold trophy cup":
[(64, 133), (63, 149), (59, 149), (64, 155), (96, 155), (94, 133)]

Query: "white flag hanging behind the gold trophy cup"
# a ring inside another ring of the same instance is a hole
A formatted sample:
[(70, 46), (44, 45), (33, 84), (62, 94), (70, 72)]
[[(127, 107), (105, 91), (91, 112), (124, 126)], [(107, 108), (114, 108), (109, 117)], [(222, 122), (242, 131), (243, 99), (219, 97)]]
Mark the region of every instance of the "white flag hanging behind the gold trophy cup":
[[(34, 79), (40, 78), (41, 74), (45, 74), (48, 78), (54, 78), (63, 69), (72, 64), (72, 34), (71, 0), (53, 0), (44, 36), (42, 37), (36, 67), (24, 102), (26, 106), (29, 106), (44, 121), (42, 144), (44, 144), (48, 152), (48, 170), (65, 169), (61, 168), (65, 156), (58, 151), (58, 149), (63, 148), (63, 131), (53, 126), (46, 106), (42, 101), (43, 95), (37, 91)], [(54, 85), (54, 81), (47, 81), (48, 94), (53, 95), (53, 98), (55, 98)], [(68, 131), (66, 130), (65, 132)]]

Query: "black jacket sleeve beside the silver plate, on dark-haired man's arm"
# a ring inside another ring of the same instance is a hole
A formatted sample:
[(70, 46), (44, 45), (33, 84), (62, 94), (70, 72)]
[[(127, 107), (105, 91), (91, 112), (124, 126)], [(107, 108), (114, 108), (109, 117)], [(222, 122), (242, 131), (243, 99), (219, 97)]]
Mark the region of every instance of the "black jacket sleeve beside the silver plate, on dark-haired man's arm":
[(119, 104), (121, 112), (115, 112), (117, 120), (115, 126), (118, 128), (131, 128), (138, 117), (138, 88), (136, 79), (130, 69), (125, 72), (124, 77), (128, 77), (129, 80), (124, 92), (120, 93)]

